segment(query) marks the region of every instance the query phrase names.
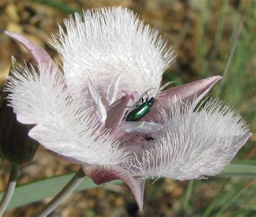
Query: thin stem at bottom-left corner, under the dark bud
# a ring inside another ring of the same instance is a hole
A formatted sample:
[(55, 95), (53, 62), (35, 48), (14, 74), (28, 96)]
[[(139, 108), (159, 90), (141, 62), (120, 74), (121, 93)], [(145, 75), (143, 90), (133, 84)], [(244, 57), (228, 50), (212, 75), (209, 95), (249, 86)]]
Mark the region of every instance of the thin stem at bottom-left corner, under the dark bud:
[(10, 175), (4, 196), (0, 204), (0, 216), (2, 216), (11, 200), (12, 194), (14, 194), (16, 182), (18, 179), (19, 166), (15, 163), (11, 163)]

